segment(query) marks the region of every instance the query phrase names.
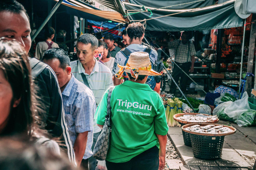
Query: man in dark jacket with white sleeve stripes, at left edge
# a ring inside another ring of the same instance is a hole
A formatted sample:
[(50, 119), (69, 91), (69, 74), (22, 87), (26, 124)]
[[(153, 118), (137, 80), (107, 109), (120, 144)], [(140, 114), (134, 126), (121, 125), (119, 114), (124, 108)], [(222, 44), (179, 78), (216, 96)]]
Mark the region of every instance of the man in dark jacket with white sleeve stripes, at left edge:
[[(29, 17), (25, 8), (14, 0), (0, 1), (0, 37), (17, 40), (28, 54), (31, 47)], [(32, 58), (31, 75), (38, 86), (37, 95), (41, 98), (46, 114), (41, 115), (45, 129), (53, 137), (61, 137), (66, 143), (68, 157), (75, 163), (74, 150), (65, 122), (61, 92), (55, 73), (50, 66)]]

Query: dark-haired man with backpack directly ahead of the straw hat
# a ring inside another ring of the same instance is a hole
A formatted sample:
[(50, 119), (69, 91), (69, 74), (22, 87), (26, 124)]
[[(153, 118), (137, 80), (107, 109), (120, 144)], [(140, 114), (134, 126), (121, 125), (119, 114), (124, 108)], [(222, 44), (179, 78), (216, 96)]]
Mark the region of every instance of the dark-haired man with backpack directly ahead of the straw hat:
[[(149, 54), (150, 62), (152, 67), (154, 67), (157, 62), (157, 52), (155, 49), (152, 49), (148, 46), (141, 45), (142, 39), (145, 36), (145, 27), (140, 22), (134, 22), (128, 25), (126, 28), (127, 35), (130, 37), (130, 45), (126, 48), (123, 48), (120, 52), (116, 54), (115, 63), (113, 67), (113, 73), (116, 74), (119, 70), (117, 64), (125, 66), (129, 60), (129, 56), (133, 52), (146, 52)], [(127, 80), (127, 75), (123, 75)], [(114, 78), (114, 85), (117, 86), (121, 84), (121, 79)], [(154, 90), (156, 86), (156, 80), (153, 76), (149, 76), (146, 84)]]

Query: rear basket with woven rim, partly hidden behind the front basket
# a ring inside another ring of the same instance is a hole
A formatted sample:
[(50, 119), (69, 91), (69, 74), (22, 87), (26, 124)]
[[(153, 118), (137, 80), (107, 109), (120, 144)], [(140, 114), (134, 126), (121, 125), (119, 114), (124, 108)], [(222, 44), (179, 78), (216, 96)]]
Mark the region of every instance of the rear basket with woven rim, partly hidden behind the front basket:
[[(177, 122), (179, 122), (181, 124), (181, 126), (185, 125), (185, 124), (190, 124), (190, 123), (195, 123), (195, 122), (188, 122), (188, 121), (182, 121), (180, 119), (178, 119), (177, 117), (179, 116), (183, 116), (183, 115), (197, 115), (199, 113), (179, 113), (179, 114), (175, 114), (173, 115), (173, 119)], [(206, 114), (202, 114), (202, 115), (205, 115), (205, 116), (210, 116), (210, 115), (206, 115)], [(219, 122), (219, 119), (214, 121), (214, 122), (207, 122), (207, 123), (218, 123)], [(204, 122), (199, 122), (199, 123), (204, 123)], [(184, 144), (186, 146), (189, 146), (191, 147), (191, 141), (190, 141), (190, 135), (189, 133), (187, 132), (184, 132), (182, 131), (182, 134), (183, 134), (183, 140), (184, 140)]]

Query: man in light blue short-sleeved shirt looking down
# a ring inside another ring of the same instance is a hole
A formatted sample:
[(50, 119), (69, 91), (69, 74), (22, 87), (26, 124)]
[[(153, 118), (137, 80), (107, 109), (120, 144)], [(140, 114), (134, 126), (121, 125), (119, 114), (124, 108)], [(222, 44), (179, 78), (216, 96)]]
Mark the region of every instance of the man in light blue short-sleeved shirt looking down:
[[(52, 48), (45, 52), (43, 62), (50, 65), (57, 75), (62, 92), (65, 118), (76, 163), (79, 167), (82, 159), (88, 162), (92, 156), (93, 116), (96, 103), (92, 91), (71, 74), (70, 59), (61, 48)], [(89, 169), (88, 164), (84, 169)]]

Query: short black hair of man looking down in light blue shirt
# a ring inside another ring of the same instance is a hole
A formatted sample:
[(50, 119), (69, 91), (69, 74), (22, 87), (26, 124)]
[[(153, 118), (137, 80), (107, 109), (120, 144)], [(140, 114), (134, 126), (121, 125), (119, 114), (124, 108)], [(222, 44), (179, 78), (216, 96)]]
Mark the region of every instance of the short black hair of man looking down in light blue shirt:
[(61, 48), (48, 49), (43, 56), (43, 60), (52, 60), (57, 58), (60, 61), (61, 69), (65, 70), (67, 66), (70, 66), (70, 58), (65, 50)]

